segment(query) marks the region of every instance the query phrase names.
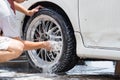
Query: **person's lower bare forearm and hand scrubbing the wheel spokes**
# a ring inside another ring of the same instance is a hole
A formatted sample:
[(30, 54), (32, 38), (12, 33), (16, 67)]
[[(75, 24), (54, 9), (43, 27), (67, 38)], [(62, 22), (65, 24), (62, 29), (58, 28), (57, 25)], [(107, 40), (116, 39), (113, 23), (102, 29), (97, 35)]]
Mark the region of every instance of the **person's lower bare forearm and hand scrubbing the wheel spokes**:
[(24, 44), (24, 50), (32, 50), (32, 49), (40, 49), (40, 48), (45, 48), (47, 50), (51, 49), (50, 43), (48, 41), (42, 41), (42, 42), (24, 41), (18, 37), (14, 39), (17, 39)]

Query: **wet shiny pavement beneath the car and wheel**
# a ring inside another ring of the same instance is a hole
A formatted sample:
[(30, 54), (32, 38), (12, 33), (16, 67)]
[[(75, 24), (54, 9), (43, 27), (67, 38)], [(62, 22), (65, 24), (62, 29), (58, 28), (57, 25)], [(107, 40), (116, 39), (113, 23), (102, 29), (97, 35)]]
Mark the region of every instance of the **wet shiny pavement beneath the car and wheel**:
[(86, 61), (85, 65), (76, 65), (65, 74), (37, 72), (19, 72), (11, 68), (0, 69), (0, 80), (120, 80), (114, 74), (112, 61)]

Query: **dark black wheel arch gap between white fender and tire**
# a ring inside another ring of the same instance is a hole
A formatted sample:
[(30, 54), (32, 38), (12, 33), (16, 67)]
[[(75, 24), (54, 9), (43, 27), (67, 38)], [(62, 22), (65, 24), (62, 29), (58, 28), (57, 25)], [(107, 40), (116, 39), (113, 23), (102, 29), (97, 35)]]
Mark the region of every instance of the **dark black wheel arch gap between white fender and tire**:
[[(53, 9), (56, 12), (58, 12), (59, 14), (61, 14), (62, 16), (64, 16), (65, 20), (69, 24), (70, 28), (73, 30), (73, 34), (74, 34), (73, 25), (71, 24), (71, 21), (70, 21), (69, 17), (67, 16), (67, 14), (65, 13), (65, 11), (60, 6), (58, 6), (58, 5), (56, 5), (56, 4), (52, 3), (52, 2), (43, 1), (43, 2), (37, 2), (37, 3), (33, 4), (29, 9), (33, 9), (33, 8), (37, 7), (38, 5), (42, 5), (42, 6), (46, 7), (46, 8)], [(25, 30), (25, 26), (26, 26), (29, 18), (30, 18), (29, 16), (25, 16), (24, 19), (23, 19), (23, 27), (22, 27), (23, 36), (25, 34), (24, 30)], [(75, 34), (74, 34), (74, 36), (75, 36)], [(75, 39), (75, 42), (76, 42), (75, 37), (74, 37), (74, 39)]]

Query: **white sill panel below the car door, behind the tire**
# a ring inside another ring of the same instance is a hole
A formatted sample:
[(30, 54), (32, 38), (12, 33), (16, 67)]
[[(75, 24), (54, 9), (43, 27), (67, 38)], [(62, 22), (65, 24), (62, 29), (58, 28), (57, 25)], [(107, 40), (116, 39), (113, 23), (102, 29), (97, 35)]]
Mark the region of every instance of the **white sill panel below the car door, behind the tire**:
[(99, 49), (99, 48), (88, 48), (84, 47), (82, 38), (79, 36), (80, 33), (75, 33), (77, 40), (77, 55), (80, 59), (108, 59), (108, 60), (120, 60), (120, 51), (109, 50), (109, 49)]

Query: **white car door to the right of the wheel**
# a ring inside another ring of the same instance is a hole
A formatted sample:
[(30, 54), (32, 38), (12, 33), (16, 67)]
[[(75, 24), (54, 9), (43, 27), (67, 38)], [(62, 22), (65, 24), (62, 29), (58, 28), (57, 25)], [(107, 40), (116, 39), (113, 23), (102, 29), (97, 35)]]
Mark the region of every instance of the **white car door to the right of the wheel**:
[(86, 47), (120, 48), (120, 0), (79, 0), (79, 19)]

